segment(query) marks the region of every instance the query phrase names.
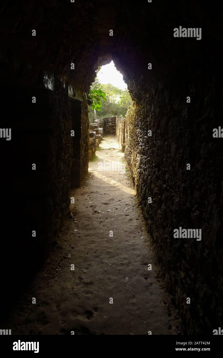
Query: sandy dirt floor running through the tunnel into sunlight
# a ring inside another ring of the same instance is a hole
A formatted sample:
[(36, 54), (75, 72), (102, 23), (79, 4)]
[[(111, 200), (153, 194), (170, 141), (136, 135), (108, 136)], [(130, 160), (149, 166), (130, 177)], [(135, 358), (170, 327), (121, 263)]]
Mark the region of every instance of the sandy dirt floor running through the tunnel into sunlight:
[[(11, 334), (182, 334), (116, 137), (100, 147), (71, 192), (72, 214), (48, 259), (10, 314)], [(120, 170), (106, 171), (109, 161)]]

